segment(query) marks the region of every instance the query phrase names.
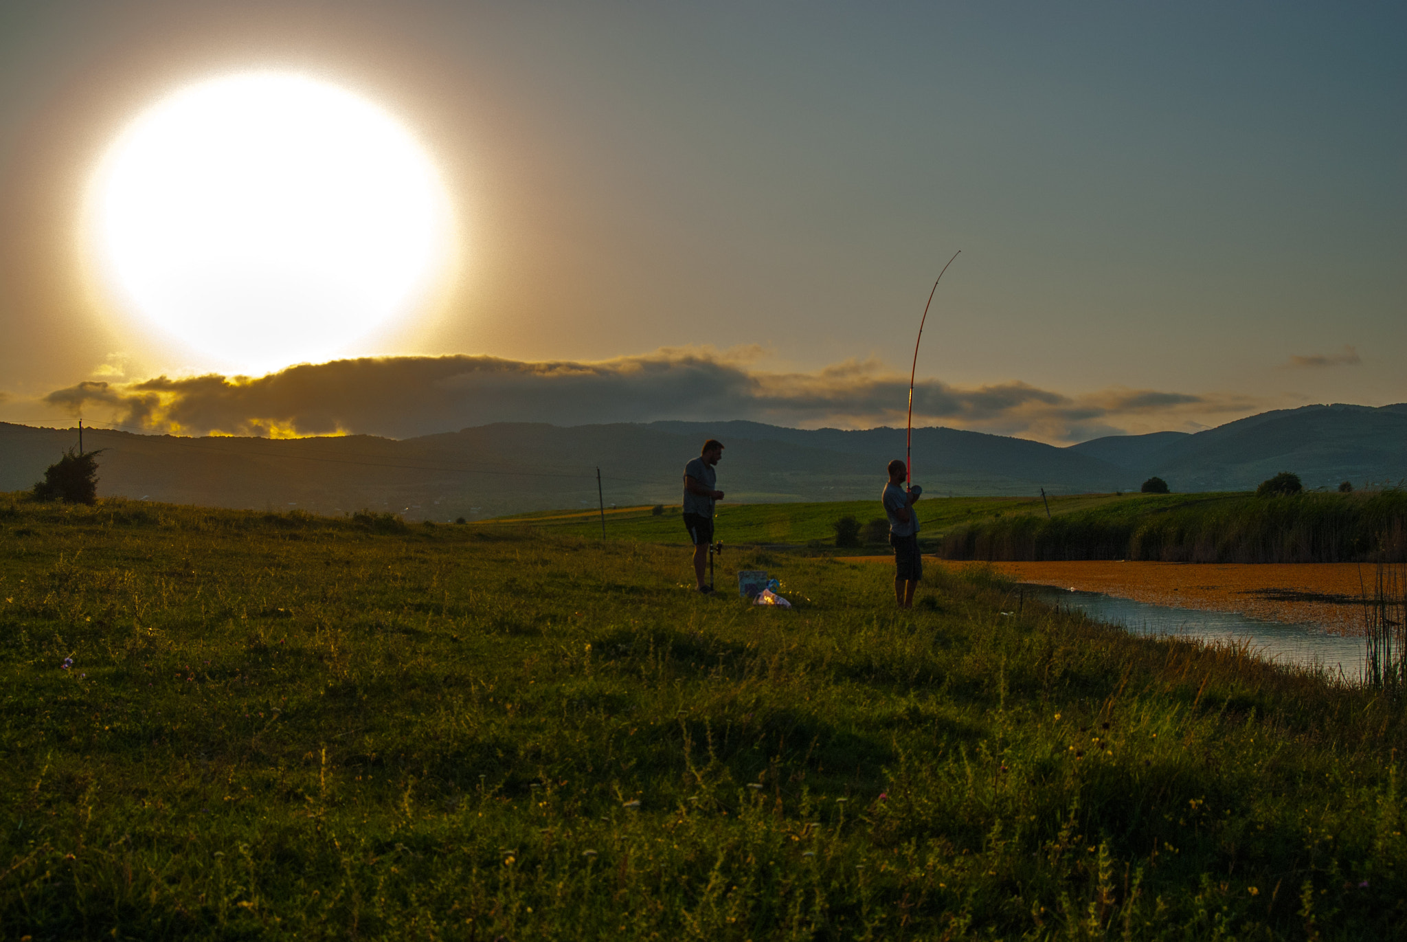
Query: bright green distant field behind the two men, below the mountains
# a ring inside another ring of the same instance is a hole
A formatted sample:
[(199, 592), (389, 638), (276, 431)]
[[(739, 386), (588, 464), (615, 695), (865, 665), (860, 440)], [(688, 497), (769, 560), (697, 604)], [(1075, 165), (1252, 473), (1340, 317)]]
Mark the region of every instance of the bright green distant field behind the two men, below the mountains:
[[(833, 546), (836, 531), (833, 524), (850, 515), (861, 524), (884, 520), (879, 505), (879, 489), (875, 486), (875, 500), (850, 500), (798, 504), (730, 504), (718, 505), (716, 535), (725, 544), (741, 545), (791, 545), (805, 546), (822, 544)], [(1088, 511), (1096, 507), (1159, 507), (1169, 497), (1157, 494), (1075, 494), (1050, 497), (1050, 510), (1055, 517)], [(1176, 497), (1171, 498), (1176, 501)], [(995, 522), (1012, 517), (1045, 514), (1040, 497), (927, 497), (920, 500), (919, 524), (924, 539), (934, 539), (954, 527), (976, 522)], [(664, 504), (658, 514), (653, 507), (613, 507), (605, 511), (606, 539), (635, 539), (651, 544), (688, 544), (688, 534), (680, 520), (678, 504)], [(601, 538), (601, 514), (590, 511), (543, 511), (539, 514), (518, 514), (488, 520), (478, 527), (540, 527), (556, 534)], [(884, 548), (884, 541), (872, 542)]]

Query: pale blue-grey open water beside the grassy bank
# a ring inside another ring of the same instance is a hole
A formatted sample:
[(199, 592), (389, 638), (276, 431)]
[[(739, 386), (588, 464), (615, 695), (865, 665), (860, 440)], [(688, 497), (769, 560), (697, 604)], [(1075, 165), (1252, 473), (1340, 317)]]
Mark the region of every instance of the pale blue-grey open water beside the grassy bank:
[(1363, 676), (1362, 638), (1331, 635), (1318, 625), (1261, 621), (1231, 611), (1202, 611), (1154, 605), (1099, 591), (1071, 591), (1055, 586), (1023, 584), (1027, 598), (1119, 625), (1135, 635), (1195, 638), (1211, 642), (1249, 642), (1252, 653), (1282, 665), (1325, 667), (1358, 682)]

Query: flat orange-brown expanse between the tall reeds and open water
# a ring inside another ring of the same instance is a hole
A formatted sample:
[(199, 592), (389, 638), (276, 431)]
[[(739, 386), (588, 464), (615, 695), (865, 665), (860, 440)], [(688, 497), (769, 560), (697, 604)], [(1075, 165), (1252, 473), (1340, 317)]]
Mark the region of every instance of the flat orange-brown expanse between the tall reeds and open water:
[[(888, 556), (853, 556), (854, 562), (892, 563)], [(926, 566), (962, 569), (972, 565), (924, 558)], [(1235, 611), (1252, 618), (1309, 622), (1348, 635), (1362, 632), (1363, 584), (1373, 566), (1358, 563), (1147, 563), (1043, 562), (992, 563), (1020, 582), (1102, 591), (1157, 605)]]

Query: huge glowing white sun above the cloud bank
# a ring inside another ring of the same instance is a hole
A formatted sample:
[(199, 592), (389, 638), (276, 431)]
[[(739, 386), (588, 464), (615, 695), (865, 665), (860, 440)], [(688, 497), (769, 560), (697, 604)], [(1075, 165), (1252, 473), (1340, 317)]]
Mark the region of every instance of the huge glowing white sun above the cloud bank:
[(238, 369), (355, 352), (452, 258), (449, 196), (390, 114), (307, 76), (186, 87), (104, 155), (86, 232), (128, 313)]

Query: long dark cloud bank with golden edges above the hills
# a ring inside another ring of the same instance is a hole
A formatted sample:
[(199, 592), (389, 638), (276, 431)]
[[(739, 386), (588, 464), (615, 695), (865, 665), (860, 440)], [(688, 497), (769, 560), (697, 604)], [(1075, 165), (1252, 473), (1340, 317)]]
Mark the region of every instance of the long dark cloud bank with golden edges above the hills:
[[(232, 435), (373, 434), (408, 438), (488, 422), (647, 422), (746, 418), (796, 428), (902, 425), (909, 384), (874, 360), (813, 373), (751, 369), (757, 351), (660, 349), (602, 362), (388, 356), (290, 366), (269, 376), (158, 376), (83, 382), (51, 406), (107, 411), (152, 431)], [(1067, 396), (1021, 382), (971, 389), (938, 380), (913, 393), (915, 425), (1075, 442), (1137, 425), (1255, 411), (1244, 397), (1110, 389)]]

